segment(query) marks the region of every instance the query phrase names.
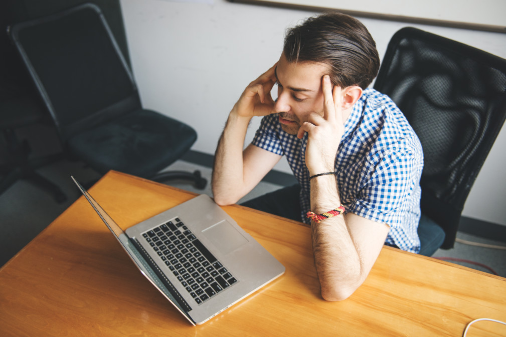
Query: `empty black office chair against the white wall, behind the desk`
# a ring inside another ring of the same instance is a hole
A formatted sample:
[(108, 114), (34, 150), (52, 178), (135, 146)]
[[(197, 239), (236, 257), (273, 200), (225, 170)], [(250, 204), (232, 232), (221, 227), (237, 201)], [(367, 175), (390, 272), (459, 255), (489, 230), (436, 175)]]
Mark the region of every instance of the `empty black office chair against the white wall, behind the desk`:
[(15, 24), (10, 35), (58, 128), (64, 148), (99, 173), (157, 181), (206, 180), (199, 171), (157, 174), (193, 145), (193, 128), (143, 109), (133, 75), (100, 8), (80, 5)]

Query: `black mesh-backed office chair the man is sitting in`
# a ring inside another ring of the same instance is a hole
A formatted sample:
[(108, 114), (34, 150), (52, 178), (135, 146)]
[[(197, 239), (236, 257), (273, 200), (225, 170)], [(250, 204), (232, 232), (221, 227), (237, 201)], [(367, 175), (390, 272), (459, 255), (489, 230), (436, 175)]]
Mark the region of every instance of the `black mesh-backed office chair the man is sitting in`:
[(506, 118), (506, 60), (407, 27), (390, 40), (374, 88), (399, 106), (424, 149), (420, 254), (453, 248), (471, 186)]

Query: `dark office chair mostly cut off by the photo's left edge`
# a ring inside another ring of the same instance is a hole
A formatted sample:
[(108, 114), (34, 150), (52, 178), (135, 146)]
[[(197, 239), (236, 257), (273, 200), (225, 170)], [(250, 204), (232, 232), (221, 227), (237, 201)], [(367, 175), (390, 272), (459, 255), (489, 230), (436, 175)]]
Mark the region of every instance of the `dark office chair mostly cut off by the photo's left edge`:
[(47, 112), (44, 104), (33, 97), (33, 85), (7, 36), (7, 26), (13, 19), (8, 5), (0, 3), (0, 194), (22, 179), (62, 203), (67, 197), (60, 187), (37, 172), (61, 156), (34, 154), (32, 139), (18, 136), (20, 129), (45, 124)]

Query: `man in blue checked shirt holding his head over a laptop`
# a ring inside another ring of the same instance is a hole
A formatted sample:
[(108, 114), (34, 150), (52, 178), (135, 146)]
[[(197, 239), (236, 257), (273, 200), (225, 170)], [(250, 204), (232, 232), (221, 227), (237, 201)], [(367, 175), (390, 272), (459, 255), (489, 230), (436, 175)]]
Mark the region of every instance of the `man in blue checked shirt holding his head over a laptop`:
[[(339, 13), (307, 19), (287, 32), (279, 61), (244, 90), (216, 151), (219, 205), (236, 203), (287, 157), (300, 186), (246, 205), (311, 223), (329, 301), (362, 284), (384, 244), (419, 250), (423, 154), (395, 104), (367, 89), (378, 68), (375, 43), (358, 20)], [(264, 117), (243, 150), (254, 116)]]

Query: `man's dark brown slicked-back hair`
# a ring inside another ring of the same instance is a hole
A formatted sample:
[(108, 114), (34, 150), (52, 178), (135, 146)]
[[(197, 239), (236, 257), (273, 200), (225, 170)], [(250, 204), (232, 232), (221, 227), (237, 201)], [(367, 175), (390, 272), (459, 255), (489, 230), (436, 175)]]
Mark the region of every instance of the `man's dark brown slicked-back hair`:
[(334, 85), (365, 89), (376, 77), (376, 43), (357, 19), (337, 12), (308, 18), (288, 29), (283, 46), (288, 62), (324, 63)]

